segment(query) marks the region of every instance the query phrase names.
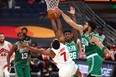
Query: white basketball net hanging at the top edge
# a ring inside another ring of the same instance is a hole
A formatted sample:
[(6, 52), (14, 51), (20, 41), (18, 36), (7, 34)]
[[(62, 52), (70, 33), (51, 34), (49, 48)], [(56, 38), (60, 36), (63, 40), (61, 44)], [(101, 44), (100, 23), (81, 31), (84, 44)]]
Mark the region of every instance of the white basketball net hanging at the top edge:
[(59, 0), (45, 0), (47, 4), (47, 10), (53, 9), (54, 7), (58, 7)]

